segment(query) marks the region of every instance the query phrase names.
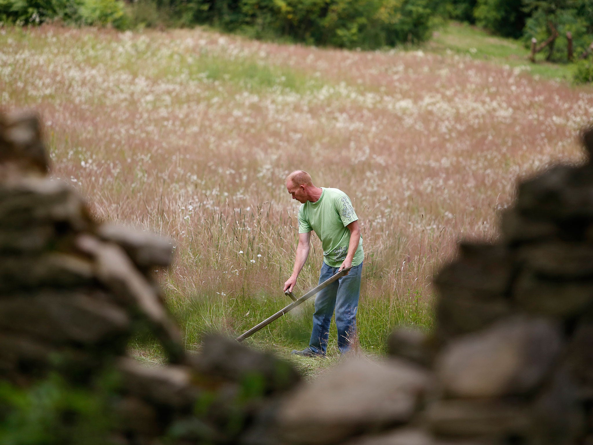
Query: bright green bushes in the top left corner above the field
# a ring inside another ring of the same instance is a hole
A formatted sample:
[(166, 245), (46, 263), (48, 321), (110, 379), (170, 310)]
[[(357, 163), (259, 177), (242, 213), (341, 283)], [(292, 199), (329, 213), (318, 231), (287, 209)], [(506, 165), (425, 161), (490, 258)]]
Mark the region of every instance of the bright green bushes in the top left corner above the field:
[(68, 24), (126, 26), (121, 0), (0, 0), (0, 22), (41, 24), (60, 20)]

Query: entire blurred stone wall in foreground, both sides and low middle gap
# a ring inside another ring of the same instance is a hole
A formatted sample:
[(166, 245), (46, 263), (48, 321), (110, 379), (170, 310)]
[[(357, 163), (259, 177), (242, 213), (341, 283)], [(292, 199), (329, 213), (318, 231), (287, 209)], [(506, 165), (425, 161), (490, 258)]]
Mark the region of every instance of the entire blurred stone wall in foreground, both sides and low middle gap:
[[(433, 332), (398, 329), (390, 357), (314, 382), (219, 336), (184, 351), (152, 276), (171, 241), (101, 224), (48, 171), (37, 118), (0, 116), (0, 376), (88, 386), (114, 367), (116, 443), (593, 444), (591, 163), (521, 183), (500, 241), (460, 245)], [(127, 357), (138, 326), (167, 365)]]

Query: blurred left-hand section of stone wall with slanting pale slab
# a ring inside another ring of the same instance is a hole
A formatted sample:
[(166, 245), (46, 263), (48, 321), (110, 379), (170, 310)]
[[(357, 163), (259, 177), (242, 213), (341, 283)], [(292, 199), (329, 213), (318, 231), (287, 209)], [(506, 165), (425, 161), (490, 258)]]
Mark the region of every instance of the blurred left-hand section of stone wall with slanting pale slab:
[[(53, 371), (92, 387), (116, 368), (117, 443), (254, 443), (298, 374), (217, 336), (187, 354), (153, 276), (171, 240), (101, 224), (48, 171), (37, 117), (0, 115), (0, 379), (28, 385)], [(141, 325), (168, 365), (126, 355)]]

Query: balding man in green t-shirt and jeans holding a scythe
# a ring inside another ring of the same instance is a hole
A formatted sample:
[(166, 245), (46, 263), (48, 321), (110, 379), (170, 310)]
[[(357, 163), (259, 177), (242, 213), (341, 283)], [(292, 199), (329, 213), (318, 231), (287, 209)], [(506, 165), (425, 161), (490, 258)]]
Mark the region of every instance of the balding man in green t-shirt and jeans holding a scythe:
[(315, 187), (306, 171), (297, 170), (289, 174), (286, 177), (286, 189), (292, 199), (301, 202), (301, 208), (298, 212), (299, 235), (295, 266), (291, 277), (284, 284), (284, 290), (292, 292), (307, 260), (311, 229), (323, 246), (320, 283), (352, 266), (347, 275), (317, 294), (309, 347), (292, 353), (304, 357), (326, 354), (331, 316), (335, 309), (337, 345), (343, 354), (349, 349), (352, 336), (355, 335), (356, 309), (361, 293), (364, 252), (358, 217), (346, 193), (338, 189)]

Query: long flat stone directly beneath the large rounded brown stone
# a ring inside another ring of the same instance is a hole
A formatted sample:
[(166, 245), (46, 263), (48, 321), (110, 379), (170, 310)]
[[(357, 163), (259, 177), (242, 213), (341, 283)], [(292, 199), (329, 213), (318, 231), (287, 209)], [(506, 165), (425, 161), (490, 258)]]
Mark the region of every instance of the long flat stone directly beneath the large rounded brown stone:
[(441, 399), (426, 409), (425, 421), (441, 437), (497, 440), (525, 438), (532, 419), (527, 405), (492, 399)]

